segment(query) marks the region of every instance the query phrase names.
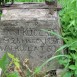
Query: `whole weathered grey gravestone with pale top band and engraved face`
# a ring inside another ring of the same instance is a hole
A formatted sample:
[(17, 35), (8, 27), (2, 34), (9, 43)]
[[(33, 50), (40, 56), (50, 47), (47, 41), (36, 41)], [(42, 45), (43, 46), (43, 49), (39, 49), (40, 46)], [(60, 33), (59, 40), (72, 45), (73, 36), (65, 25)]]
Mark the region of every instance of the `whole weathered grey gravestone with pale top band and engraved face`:
[[(9, 51), (21, 61), (28, 58), (34, 69), (52, 57), (62, 45), (59, 38), (41, 30), (60, 31), (57, 11), (53, 15), (49, 14), (44, 3), (20, 4), (3, 12), (0, 22), (0, 57)], [(58, 67), (57, 62), (53, 61), (43, 70), (55, 70)]]

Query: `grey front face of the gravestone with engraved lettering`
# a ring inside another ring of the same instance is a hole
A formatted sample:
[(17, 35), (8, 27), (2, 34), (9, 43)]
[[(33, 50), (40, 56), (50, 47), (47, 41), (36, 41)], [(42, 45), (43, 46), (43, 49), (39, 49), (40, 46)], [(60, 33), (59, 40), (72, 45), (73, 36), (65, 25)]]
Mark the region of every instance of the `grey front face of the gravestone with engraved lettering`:
[(55, 23), (47, 20), (1, 22), (0, 49), (13, 52), (21, 61), (28, 57), (32, 67), (39, 66), (61, 45), (60, 39), (41, 30), (58, 32)]

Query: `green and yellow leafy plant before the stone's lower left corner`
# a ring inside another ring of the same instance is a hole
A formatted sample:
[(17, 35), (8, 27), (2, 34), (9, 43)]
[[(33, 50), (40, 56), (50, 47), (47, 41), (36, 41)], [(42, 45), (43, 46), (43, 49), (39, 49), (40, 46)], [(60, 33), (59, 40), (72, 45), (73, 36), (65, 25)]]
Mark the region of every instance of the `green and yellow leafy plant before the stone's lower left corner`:
[[(11, 60), (9, 59), (9, 57)], [(10, 69), (10, 67), (12, 67), (13, 65), (14, 67), (12, 68), (12, 70), (19, 68), (19, 60), (15, 58), (14, 55), (5, 53), (4, 56), (0, 59), (0, 68), (3, 71), (1, 77), (20, 77), (17, 70), (12, 71)]]

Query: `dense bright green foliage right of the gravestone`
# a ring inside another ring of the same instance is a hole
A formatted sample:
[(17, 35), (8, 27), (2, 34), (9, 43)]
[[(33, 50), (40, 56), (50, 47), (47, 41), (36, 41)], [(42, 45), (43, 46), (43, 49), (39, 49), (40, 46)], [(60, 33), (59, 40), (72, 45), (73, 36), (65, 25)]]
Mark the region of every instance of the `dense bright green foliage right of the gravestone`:
[[(70, 44), (77, 41), (77, 0), (59, 0), (63, 6), (60, 11), (60, 21), (62, 27), (62, 37), (64, 44)], [(66, 71), (63, 77), (77, 77), (77, 42), (67, 47), (66, 53), (68, 60), (62, 58), (59, 60)]]

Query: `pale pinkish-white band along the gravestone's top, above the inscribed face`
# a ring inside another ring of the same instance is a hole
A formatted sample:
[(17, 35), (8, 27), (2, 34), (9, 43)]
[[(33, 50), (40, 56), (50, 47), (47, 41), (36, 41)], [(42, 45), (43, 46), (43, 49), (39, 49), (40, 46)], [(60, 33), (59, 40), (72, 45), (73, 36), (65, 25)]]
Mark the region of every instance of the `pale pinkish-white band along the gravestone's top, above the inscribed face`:
[(58, 19), (57, 12), (49, 14), (48, 9), (12, 9), (3, 10), (1, 21), (3, 20), (56, 20)]

